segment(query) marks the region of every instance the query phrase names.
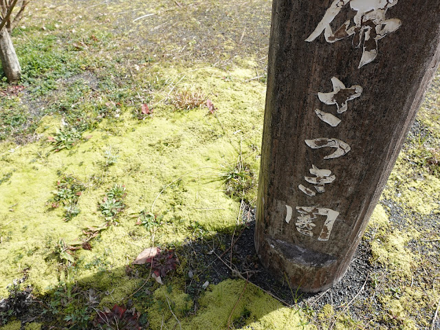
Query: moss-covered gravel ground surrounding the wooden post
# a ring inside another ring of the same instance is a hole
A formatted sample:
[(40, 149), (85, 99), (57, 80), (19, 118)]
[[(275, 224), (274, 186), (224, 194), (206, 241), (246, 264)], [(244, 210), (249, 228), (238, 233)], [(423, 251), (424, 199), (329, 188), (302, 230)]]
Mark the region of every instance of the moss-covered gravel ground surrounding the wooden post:
[[(144, 329), (440, 329), (440, 76), (364, 235), (363, 285), (273, 297), (243, 280), (252, 256), (231, 276), (255, 204), (270, 11), (29, 4), (12, 35), (23, 78), (0, 83), (0, 300), (28, 285), (33, 298), (0, 311), (1, 329), (94, 329), (115, 304)], [(132, 265), (153, 246), (178, 258), (164, 285)]]

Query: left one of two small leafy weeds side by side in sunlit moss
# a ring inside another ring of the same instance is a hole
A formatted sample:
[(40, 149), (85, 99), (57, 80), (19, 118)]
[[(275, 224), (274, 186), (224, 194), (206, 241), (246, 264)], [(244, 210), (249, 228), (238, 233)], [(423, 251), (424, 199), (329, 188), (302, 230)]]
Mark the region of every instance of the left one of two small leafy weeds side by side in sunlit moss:
[(49, 203), (52, 208), (64, 206), (65, 214), (64, 220), (69, 221), (80, 213), (78, 208), (78, 200), (83, 194), (86, 186), (80, 180), (66, 175), (56, 183), (57, 190), (54, 191), (54, 197), (50, 199)]

